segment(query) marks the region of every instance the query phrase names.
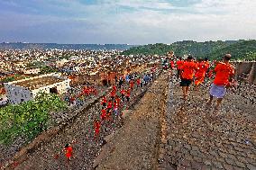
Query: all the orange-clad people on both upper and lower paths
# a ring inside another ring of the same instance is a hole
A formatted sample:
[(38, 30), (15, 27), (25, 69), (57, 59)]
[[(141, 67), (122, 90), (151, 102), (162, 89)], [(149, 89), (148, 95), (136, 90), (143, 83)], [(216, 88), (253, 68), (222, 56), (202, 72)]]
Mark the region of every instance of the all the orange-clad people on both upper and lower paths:
[[(171, 58), (174, 58), (173, 54), (171, 54)], [(223, 61), (212, 63), (207, 58), (194, 59), (192, 56), (188, 56), (186, 59), (178, 58), (176, 62), (174, 62), (174, 59), (170, 59), (170, 78), (173, 76), (172, 71), (176, 68), (176, 76), (180, 79), (179, 85), (182, 88), (185, 103), (187, 102), (189, 86), (192, 83), (196, 86), (195, 90), (199, 91), (200, 85), (206, 82), (206, 80), (212, 81), (212, 78), (214, 78), (209, 90), (209, 101), (206, 106), (210, 107), (214, 97), (217, 98), (215, 105), (215, 111), (217, 112), (226, 93), (226, 88), (234, 85), (234, 67), (229, 63), (230, 58), (230, 54), (225, 54)], [(93, 122), (95, 141), (98, 141), (100, 132), (104, 127), (111, 126), (116, 120), (122, 120), (122, 111), (127, 109), (127, 106), (131, 103), (131, 93), (133, 90), (148, 85), (154, 79), (155, 71), (156, 67), (152, 67), (151, 71), (146, 74), (133, 73), (114, 78), (114, 85), (111, 85), (108, 94), (104, 94), (100, 99), (100, 112), (96, 112)], [(84, 87), (76, 97), (89, 94), (97, 94), (93, 86)], [(66, 157), (69, 160), (72, 157), (71, 145), (67, 144), (63, 150), (66, 152)]]

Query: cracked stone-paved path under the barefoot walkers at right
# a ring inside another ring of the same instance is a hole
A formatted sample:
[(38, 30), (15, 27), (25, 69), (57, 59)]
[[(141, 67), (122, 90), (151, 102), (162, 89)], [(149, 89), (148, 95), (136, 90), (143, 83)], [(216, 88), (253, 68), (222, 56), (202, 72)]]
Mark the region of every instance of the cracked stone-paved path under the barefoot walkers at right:
[(216, 115), (206, 109), (208, 87), (202, 89), (190, 92), (188, 103), (183, 104), (178, 82), (171, 82), (168, 143), (160, 167), (255, 170), (256, 106), (242, 95), (229, 93)]

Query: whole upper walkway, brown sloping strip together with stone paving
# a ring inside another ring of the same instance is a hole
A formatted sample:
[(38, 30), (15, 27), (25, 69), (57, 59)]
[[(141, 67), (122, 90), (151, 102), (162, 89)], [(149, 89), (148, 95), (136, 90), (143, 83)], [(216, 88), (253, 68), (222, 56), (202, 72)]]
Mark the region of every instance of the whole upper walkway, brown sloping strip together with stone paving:
[(229, 89), (218, 114), (206, 108), (210, 82), (199, 92), (192, 86), (187, 103), (175, 77), (167, 97), (163, 86), (152, 85), (157, 93), (145, 94), (129, 122), (102, 149), (96, 169), (256, 169), (253, 85)]

